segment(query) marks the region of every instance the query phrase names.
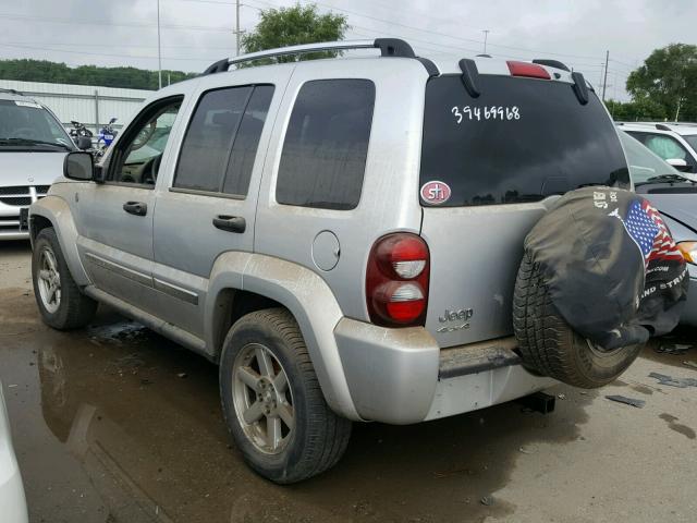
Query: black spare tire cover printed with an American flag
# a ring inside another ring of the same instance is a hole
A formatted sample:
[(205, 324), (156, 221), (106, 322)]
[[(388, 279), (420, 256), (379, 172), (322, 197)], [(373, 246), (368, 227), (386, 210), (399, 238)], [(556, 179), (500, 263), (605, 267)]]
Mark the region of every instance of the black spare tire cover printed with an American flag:
[(678, 323), (689, 279), (660, 214), (635, 193), (584, 187), (562, 196), (525, 239), (552, 304), (611, 350)]

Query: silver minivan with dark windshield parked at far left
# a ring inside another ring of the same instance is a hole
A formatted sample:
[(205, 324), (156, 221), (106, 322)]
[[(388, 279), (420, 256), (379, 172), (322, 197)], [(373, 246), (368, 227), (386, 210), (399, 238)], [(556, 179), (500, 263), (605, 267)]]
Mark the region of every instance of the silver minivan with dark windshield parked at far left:
[(61, 177), (71, 150), (73, 141), (46, 106), (0, 89), (0, 241), (29, 238), (26, 211)]

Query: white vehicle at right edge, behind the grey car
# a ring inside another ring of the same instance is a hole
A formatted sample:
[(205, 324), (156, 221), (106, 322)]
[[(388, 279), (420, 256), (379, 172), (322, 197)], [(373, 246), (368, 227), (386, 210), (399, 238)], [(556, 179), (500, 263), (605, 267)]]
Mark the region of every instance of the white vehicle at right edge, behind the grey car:
[(678, 171), (697, 173), (697, 123), (620, 122), (617, 125)]

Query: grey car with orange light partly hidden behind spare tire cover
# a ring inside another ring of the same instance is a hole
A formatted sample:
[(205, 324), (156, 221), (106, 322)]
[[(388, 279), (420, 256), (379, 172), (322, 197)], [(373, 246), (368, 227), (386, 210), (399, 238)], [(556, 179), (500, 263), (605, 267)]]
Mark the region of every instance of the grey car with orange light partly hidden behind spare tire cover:
[(697, 174), (678, 172), (629, 133), (620, 131), (635, 191), (663, 216), (687, 260), (689, 292), (681, 323), (697, 326)]

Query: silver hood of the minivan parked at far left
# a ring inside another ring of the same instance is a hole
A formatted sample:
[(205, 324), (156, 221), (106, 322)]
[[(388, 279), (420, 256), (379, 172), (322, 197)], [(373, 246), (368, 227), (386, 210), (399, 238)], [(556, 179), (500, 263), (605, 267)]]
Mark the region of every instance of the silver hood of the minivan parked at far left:
[(0, 186), (50, 185), (63, 175), (66, 153), (0, 151)]

